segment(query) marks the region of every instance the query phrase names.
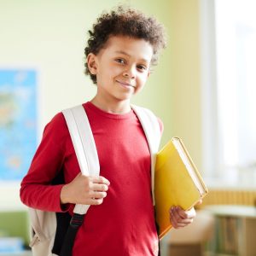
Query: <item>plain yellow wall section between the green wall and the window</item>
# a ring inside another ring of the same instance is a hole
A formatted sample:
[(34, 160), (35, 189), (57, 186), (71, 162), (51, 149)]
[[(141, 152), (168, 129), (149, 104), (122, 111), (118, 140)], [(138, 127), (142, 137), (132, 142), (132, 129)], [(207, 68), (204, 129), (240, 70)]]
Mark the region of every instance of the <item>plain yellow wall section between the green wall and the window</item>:
[(200, 1), (170, 3), (172, 132), (183, 137), (201, 170)]

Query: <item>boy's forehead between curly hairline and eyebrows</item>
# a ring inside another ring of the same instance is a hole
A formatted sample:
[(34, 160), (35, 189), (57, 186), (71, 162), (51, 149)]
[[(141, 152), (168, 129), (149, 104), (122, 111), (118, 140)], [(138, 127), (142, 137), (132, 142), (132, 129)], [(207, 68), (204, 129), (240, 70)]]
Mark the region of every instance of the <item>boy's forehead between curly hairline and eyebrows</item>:
[(151, 61), (153, 55), (153, 47), (146, 40), (125, 36), (108, 38), (103, 50), (108, 51), (108, 54), (129, 55), (148, 62)]

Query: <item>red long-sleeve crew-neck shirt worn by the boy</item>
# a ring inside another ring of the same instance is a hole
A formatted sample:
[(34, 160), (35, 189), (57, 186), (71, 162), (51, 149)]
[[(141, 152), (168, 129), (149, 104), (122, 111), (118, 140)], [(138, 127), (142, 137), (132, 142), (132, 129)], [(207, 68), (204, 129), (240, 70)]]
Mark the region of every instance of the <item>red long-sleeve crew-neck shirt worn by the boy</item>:
[[(105, 113), (90, 102), (84, 108), (96, 142), (100, 173), (108, 178), (110, 186), (102, 205), (91, 206), (86, 213), (73, 255), (157, 255), (150, 154), (143, 128), (132, 110)], [(21, 183), (21, 201), (44, 211), (65, 210), (60, 204), (62, 185), (50, 185), (58, 172), (64, 173), (66, 183), (80, 172), (62, 113), (44, 129), (42, 142)], [(73, 205), (67, 208), (72, 214)]]

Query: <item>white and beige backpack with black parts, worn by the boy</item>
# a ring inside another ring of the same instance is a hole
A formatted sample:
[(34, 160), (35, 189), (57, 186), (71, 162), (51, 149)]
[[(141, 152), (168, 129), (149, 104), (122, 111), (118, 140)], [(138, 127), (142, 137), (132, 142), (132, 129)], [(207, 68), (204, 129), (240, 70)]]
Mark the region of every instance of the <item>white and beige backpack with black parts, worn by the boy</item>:
[[(134, 105), (131, 105), (131, 108), (137, 114), (148, 140), (151, 154), (151, 190), (154, 204), (154, 166), (155, 155), (160, 145), (160, 125), (154, 113), (148, 109)], [(85, 176), (99, 176), (100, 165), (96, 145), (84, 107), (79, 105), (65, 109), (62, 113), (72, 138), (80, 171)], [(53, 184), (56, 183), (64, 183), (63, 173), (60, 173), (60, 177), (55, 178)], [(71, 256), (73, 241), (89, 207), (89, 205), (77, 204), (73, 210), (73, 218), (68, 212), (45, 212), (29, 208), (32, 223), (30, 247), (32, 247), (33, 255)]]

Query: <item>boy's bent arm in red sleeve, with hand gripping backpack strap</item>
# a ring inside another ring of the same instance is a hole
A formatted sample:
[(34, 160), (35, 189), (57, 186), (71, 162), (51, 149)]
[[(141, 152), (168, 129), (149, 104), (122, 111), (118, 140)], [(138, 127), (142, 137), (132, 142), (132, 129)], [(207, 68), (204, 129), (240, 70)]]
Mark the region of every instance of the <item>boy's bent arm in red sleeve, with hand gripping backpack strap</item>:
[(69, 183), (52, 184), (58, 173), (64, 171), (67, 152), (72, 147), (67, 140), (71, 142), (67, 124), (62, 113), (58, 113), (45, 127), (42, 142), (21, 182), (20, 199), (26, 206), (63, 212), (69, 209), (70, 203), (99, 205), (107, 195), (109, 182), (106, 178), (85, 177), (78, 170), (73, 170), (74, 176), (79, 175)]

